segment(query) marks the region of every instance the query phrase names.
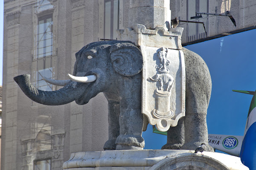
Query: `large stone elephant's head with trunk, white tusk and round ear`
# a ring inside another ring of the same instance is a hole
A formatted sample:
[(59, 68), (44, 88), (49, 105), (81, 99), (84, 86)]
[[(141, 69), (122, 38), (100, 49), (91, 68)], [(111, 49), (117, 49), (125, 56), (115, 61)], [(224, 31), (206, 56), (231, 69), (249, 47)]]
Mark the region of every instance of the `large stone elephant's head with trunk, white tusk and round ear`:
[[(142, 70), (140, 50), (131, 42), (93, 42), (76, 53), (73, 76), (58, 91), (41, 91), (30, 82), (30, 75), (15, 77), (24, 94), (43, 105), (64, 105), (76, 101), (84, 105), (100, 92), (116, 88), (120, 78)], [(89, 82), (88, 82), (89, 78)]]

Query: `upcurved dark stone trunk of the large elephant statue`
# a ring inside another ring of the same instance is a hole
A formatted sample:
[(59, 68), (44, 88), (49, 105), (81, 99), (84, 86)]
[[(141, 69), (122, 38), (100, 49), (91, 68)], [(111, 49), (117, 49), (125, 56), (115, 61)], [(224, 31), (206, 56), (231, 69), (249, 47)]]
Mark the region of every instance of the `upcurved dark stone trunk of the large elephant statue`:
[(73, 81), (58, 91), (41, 91), (31, 84), (29, 74), (14, 77), (14, 80), (26, 96), (43, 105), (64, 105), (73, 102), (84, 92), (84, 86), (77, 85), (78, 83)]

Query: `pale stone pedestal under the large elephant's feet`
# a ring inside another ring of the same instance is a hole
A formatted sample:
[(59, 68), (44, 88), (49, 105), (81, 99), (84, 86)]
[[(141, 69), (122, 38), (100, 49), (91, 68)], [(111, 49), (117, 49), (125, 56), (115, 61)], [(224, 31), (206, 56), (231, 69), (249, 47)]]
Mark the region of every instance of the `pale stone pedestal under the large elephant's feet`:
[(194, 150), (108, 150), (72, 153), (64, 170), (249, 170), (239, 157)]

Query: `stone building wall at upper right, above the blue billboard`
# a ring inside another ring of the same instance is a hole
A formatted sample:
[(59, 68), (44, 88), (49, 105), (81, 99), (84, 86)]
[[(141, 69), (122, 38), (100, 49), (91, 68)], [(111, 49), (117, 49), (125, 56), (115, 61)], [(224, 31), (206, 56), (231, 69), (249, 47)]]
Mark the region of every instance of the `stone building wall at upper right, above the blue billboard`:
[[(204, 25), (202, 23), (180, 23), (179, 27), (184, 28), (183, 45), (256, 28), (255, 0), (171, 0), (170, 2), (172, 19), (178, 17), (179, 20), (204, 23)], [(236, 21), (236, 26), (226, 16), (202, 14), (202, 18), (190, 18), (195, 16), (195, 12), (225, 14), (226, 11), (230, 11)]]

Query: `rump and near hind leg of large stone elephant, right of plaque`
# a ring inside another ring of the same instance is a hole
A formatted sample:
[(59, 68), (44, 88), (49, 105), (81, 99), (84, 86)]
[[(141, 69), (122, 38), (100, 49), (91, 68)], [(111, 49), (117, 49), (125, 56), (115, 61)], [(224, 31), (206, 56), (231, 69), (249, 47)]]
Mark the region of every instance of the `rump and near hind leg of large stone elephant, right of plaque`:
[(185, 142), (181, 149), (195, 150), (202, 143), (208, 144), (207, 108), (212, 91), (209, 69), (196, 53), (183, 48), (186, 68), (186, 116), (184, 117)]

